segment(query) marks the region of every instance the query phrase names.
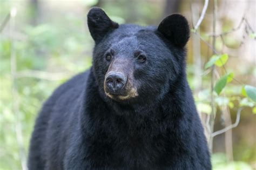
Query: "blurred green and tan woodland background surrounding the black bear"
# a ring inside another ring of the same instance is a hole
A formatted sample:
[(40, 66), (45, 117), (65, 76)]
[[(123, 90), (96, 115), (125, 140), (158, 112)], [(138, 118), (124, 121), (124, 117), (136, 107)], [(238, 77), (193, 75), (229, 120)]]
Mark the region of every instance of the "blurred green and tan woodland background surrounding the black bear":
[[(30, 135), (44, 100), (91, 66), (94, 42), (86, 13), (92, 6), (121, 24), (158, 25), (174, 12), (186, 16), (192, 29), (187, 78), (213, 169), (256, 168), (256, 1), (210, 0), (194, 30), (204, 1), (0, 0), (0, 169), (26, 169)], [(206, 68), (206, 63), (215, 66)], [(235, 122), (239, 110), (238, 126), (213, 138), (213, 131)]]

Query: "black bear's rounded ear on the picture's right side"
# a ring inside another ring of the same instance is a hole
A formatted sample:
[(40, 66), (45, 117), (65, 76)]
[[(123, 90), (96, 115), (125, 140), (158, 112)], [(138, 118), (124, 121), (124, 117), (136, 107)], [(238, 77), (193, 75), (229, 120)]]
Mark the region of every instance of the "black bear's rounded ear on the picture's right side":
[(190, 38), (190, 27), (187, 19), (178, 13), (164, 18), (157, 30), (179, 47), (184, 47)]

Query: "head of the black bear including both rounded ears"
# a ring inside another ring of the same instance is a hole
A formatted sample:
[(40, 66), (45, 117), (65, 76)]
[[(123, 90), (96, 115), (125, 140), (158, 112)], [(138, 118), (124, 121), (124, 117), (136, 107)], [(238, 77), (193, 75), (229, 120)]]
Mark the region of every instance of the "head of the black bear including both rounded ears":
[(118, 25), (92, 8), (87, 22), (95, 40), (93, 72), (106, 100), (150, 104), (163, 98), (184, 70), (189, 26), (181, 15), (166, 17), (158, 28), (143, 27)]

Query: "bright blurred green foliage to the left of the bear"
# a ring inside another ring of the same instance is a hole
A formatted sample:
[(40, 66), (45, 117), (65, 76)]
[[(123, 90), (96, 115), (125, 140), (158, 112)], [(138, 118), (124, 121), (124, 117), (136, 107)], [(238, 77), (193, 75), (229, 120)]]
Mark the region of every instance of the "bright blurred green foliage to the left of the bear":
[[(3, 16), (6, 16), (8, 10), (10, 8), (6, 6)], [(69, 25), (23, 24), (22, 28), (13, 30), (12, 34), (17, 36), (0, 37), (0, 169), (21, 169), (20, 148), (15, 130), (18, 121), (22, 127), (23, 145), (27, 155), (33, 124), (43, 101), (60, 83), (91, 65), (92, 39), (77, 29), (83, 28), (82, 19), (66, 15), (62, 20)], [(16, 75), (11, 75), (11, 55), (16, 57)], [(19, 76), (23, 72), (31, 75)], [(43, 79), (37, 75), (41, 72), (46, 74)], [(52, 80), (51, 77), (56, 77), (55, 73), (63, 73), (65, 77)], [(12, 76), (17, 76), (14, 82), (11, 81)], [(12, 95), (13, 90), (17, 91), (17, 96)], [(16, 114), (14, 103), (18, 104)]]

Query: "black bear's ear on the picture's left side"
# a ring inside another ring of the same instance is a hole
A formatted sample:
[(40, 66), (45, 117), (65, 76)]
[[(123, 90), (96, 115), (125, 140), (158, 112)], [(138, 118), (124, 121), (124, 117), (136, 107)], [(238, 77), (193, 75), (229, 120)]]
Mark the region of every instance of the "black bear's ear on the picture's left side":
[(87, 14), (87, 24), (92, 38), (98, 43), (107, 32), (118, 28), (118, 24), (111, 21), (106, 13), (98, 8), (92, 8)]

